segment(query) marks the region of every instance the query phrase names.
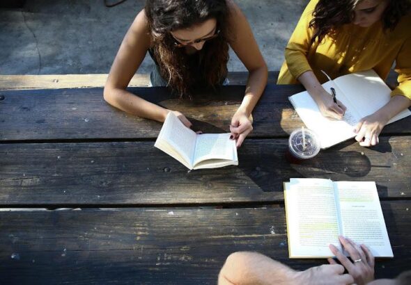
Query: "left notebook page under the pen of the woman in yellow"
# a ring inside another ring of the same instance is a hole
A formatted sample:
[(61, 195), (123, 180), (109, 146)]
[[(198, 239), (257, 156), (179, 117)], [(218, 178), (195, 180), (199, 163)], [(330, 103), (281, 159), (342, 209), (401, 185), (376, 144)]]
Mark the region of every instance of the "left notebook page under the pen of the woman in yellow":
[(324, 83), (323, 87), (327, 92), (330, 92), (330, 88), (334, 88), (337, 99), (347, 107), (343, 120), (324, 117), (320, 113), (316, 101), (313, 100), (307, 91), (291, 96), (290, 101), (307, 128), (320, 136), (321, 148), (327, 148), (355, 137), (353, 130), (361, 116), (355, 111), (355, 108), (352, 108), (350, 101), (346, 99), (344, 93), (333, 81)]

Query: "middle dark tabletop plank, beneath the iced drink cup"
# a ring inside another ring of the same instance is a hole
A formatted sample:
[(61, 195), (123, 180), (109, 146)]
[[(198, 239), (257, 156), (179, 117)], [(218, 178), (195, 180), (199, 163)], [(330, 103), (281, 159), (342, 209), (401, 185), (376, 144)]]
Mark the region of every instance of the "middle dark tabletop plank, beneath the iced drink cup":
[(411, 137), (345, 142), (301, 165), (284, 158), (287, 143), (246, 140), (238, 167), (192, 172), (153, 142), (0, 144), (0, 205), (271, 203), (290, 177), (376, 181), (382, 199), (411, 197)]

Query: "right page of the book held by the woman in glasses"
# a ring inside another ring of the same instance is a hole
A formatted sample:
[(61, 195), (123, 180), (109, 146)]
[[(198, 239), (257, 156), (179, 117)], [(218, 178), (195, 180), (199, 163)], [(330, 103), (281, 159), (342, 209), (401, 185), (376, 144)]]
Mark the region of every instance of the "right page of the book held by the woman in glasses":
[[(202, 133), (197, 136), (193, 165), (206, 160), (237, 160), (235, 140), (231, 133)], [(212, 163), (212, 161), (210, 161)]]

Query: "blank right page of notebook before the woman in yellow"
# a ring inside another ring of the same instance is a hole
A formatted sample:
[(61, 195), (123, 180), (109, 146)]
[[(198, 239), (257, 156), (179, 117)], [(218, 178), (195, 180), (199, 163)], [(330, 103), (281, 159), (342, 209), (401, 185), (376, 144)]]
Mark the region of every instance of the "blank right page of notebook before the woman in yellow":
[[(391, 89), (374, 70), (347, 74), (334, 79), (334, 83), (344, 92), (350, 106), (353, 106), (362, 117), (371, 115), (385, 106), (391, 99)], [(406, 109), (393, 117), (388, 124), (411, 115)]]

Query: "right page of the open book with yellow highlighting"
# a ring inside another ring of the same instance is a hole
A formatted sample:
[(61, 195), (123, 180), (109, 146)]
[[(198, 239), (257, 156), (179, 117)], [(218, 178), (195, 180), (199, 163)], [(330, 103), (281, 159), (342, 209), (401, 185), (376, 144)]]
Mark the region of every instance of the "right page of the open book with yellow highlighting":
[(342, 234), (364, 243), (374, 257), (393, 257), (375, 182), (334, 182), (339, 193)]

